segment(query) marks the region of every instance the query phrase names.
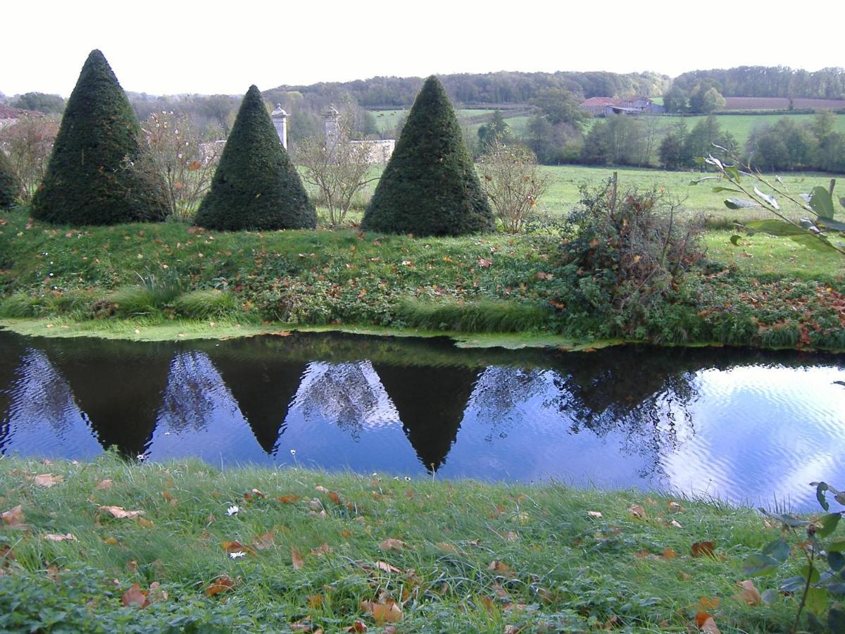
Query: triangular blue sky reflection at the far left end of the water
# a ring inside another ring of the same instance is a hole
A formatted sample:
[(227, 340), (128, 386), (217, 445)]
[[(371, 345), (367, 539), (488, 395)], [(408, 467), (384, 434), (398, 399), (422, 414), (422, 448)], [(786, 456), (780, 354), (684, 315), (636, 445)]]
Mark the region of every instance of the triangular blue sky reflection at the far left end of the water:
[(20, 359), (8, 416), (4, 453), (62, 456), (71, 460), (102, 451), (74, 402), (66, 380), (45, 353), (30, 350)]

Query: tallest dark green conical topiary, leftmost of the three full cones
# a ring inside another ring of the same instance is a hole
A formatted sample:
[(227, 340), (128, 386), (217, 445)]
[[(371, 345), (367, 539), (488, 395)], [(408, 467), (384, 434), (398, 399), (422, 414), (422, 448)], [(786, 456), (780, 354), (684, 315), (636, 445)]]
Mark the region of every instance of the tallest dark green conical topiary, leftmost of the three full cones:
[(100, 51), (91, 51), (68, 99), (33, 216), (74, 225), (160, 221), (164, 183), (145, 167), (138, 118)]

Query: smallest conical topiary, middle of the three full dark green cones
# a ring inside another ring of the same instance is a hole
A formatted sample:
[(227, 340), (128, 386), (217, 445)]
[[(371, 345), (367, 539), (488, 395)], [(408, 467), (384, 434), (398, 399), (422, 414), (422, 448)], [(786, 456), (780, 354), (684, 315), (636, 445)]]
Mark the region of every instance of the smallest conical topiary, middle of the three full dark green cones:
[(314, 206), (255, 86), (243, 97), (194, 222), (225, 230), (317, 226)]

